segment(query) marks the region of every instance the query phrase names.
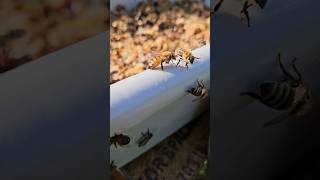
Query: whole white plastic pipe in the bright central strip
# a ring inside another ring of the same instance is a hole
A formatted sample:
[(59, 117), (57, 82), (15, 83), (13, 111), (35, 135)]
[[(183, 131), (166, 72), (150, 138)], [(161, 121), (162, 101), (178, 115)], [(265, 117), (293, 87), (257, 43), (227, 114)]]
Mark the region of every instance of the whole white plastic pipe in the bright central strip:
[[(146, 70), (110, 86), (110, 136), (123, 133), (131, 138), (126, 147), (111, 146), (110, 160), (121, 167), (175, 132), (209, 108), (208, 98), (186, 92), (203, 80), (210, 89), (210, 45), (193, 51), (199, 57), (187, 70), (171, 64), (164, 71)], [(150, 129), (153, 137), (145, 147), (136, 141)]]

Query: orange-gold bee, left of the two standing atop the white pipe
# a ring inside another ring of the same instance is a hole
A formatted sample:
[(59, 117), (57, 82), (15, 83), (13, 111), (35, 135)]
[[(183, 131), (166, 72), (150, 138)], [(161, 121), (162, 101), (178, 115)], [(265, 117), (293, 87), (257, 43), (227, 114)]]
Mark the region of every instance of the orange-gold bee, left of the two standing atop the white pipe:
[(173, 60), (176, 60), (174, 52), (164, 51), (162, 53), (155, 54), (155, 56), (151, 60), (151, 63), (149, 64), (149, 68), (154, 69), (157, 66), (161, 65), (161, 69), (163, 71), (163, 63), (169, 64), (170, 61), (173, 62)]

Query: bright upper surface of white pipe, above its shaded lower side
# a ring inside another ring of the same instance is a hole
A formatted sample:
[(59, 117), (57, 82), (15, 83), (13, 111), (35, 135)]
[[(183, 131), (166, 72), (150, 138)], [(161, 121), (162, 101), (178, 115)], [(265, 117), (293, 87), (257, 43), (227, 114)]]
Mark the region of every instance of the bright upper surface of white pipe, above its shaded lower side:
[(130, 129), (178, 99), (203, 80), (209, 88), (210, 45), (193, 52), (199, 57), (187, 70), (174, 64), (164, 66), (164, 71), (146, 70), (138, 75), (114, 83), (110, 87), (110, 135)]

